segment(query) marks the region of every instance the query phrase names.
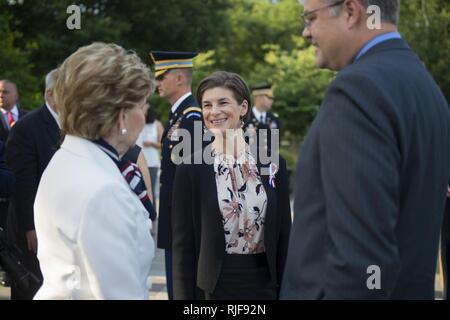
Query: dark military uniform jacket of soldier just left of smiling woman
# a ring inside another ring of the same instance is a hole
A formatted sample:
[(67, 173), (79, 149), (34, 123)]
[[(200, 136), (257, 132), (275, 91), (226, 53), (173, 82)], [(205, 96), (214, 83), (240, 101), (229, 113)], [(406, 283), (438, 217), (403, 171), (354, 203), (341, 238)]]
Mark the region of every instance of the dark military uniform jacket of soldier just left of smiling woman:
[[(177, 129), (186, 129), (191, 134), (191, 147), (194, 146), (194, 122), (202, 120), (201, 109), (195, 98), (190, 95), (181, 102), (176, 112), (169, 117), (169, 124), (161, 137), (161, 176), (160, 201), (158, 218), (158, 248), (170, 250), (172, 245), (171, 233), (171, 203), (173, 180), (176, 165), (173, 163), (172, 150), (182, 140), (177, 140)], [(200, 132), (201, 134), (201, 132)]]

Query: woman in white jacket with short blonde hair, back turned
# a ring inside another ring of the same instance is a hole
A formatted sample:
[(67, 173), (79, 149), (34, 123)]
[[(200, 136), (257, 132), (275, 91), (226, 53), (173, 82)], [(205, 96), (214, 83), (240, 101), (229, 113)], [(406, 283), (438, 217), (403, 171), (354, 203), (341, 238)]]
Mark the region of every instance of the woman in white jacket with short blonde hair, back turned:
[(152, 91), (145, 65), (114, 44), (82, 47), (58, 69), (65, 139), (34, 204), (44, 276), (35, 299), (148, 299), (148, 197), (124, 155), (144, 126)]

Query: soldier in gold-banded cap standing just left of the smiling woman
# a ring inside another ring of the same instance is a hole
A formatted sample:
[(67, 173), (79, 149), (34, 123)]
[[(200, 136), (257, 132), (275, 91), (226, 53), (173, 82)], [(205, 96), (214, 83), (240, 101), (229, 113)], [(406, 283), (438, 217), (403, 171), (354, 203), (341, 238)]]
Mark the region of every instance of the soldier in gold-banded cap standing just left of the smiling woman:
[[(169, 300), (172, 300), (172, 228), (170, 216), (173, 180), (176, 171), (172, 150), (178, 144), (177, 129), (189, 131), (191, 138), (194, 139), (194, 123), (200, 122), (201, 128), (201, 109), (191, 93), (192, 59), (197, 56), (197, 53), (152, 51), (150, 56), (155, 63), (156, 85), (159, 96), (172, 105), (169, 123), (161, 138), (162, 160), (157, 239), (158, 248), (165, 249), (167, 294)], [(194, 146), (193, 140), (191, 146)]]

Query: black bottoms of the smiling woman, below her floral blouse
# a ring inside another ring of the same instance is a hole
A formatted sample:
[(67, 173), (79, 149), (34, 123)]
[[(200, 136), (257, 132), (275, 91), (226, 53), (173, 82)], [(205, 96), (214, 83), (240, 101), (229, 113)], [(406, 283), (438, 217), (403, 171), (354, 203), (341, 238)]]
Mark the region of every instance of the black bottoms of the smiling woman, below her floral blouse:
[(266, 254), (226, 254), (216, 288), (205, 299), (276, 300)]

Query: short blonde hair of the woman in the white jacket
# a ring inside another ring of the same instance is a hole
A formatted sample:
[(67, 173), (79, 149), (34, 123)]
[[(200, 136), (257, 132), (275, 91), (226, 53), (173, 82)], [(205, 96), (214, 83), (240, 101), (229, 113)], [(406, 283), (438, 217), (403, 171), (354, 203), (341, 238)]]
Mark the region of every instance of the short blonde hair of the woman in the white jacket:
[(151, 72), (135, 53), (99, 42), (81, 47), (58, 68), (54, 95), (61, 129), (85, 139), (105, 137), (122, 109), (153, 90)]

